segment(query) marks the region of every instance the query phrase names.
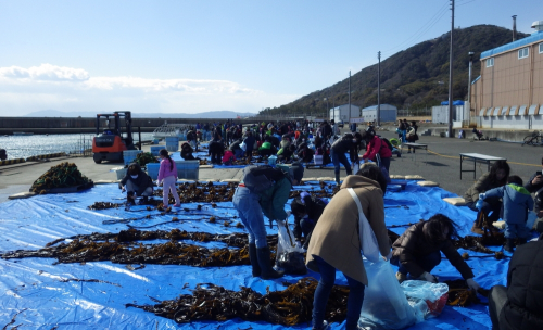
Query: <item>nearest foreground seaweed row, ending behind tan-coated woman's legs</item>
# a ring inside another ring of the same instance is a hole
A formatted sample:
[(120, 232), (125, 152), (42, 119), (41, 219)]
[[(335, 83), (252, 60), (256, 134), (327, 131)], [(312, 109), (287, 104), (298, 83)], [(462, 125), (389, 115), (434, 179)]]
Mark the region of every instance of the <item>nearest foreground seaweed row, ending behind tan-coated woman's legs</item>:
[[(313, 295), (317, 281), (312, 278), (299, 280), (282, 291), (262, 295), (249, 288), (231, 291), (215, 284), (198, 284), (192, 294), (182, 294), (176, 300), (155, 305), (127, 304), (178, 323), (194, 320), (224, 321), (239, 317), (244, 320), (264, 320), (274, 325), (294, 326), (308, 323), (312, 319)], [(328, 300), (325, 318), (341, 322), (346, 316), (349, 287), (334, 285)]]

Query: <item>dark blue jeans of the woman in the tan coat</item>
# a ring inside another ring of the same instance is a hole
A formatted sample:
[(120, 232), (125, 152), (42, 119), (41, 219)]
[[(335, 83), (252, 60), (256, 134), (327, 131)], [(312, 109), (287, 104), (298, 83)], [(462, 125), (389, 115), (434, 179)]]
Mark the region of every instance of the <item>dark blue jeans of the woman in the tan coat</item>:
[[(325, 320), (326, 304), (332, 291), (333, 282), (336, 281), (336, 268), (325, 262), (319, 256), (313, 256), (317, 263), (320, 272), (315, 296), (313, 299), (313, 329), (320, 329)], [(349, 282), (349, 299), (346, 303), (346, 323), (345, 329), (357, 329), (358, 319), (361, 318), (362, 303), (364, 302), (364, 284), (350, 278), (345, 275)]]

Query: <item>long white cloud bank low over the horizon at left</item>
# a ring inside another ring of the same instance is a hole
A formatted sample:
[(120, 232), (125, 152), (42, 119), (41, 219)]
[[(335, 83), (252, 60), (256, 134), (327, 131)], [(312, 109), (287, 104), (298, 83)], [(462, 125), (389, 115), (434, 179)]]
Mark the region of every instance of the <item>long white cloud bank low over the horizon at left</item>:
[(228, 80), (92, 77), (83, 68), (41, 64), (0, 67), (0, 116), (45, 109), (199, 113), (231, 110), (258, 112), (300, 96), (272, 94)]

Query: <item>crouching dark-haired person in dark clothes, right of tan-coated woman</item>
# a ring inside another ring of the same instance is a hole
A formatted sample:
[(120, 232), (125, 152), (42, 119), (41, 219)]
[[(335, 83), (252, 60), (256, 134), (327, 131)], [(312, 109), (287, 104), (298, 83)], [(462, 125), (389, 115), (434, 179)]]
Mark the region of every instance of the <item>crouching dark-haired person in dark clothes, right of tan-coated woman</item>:
[(473, 280), (473, 271), (456, 251), (452, 239), (458, 238), (455, 224), (442, 214), (435, 214), (428, 221), (419, 221), (405, 230), (392, 244), (390, 263), (399, 266), (396, 279), (403, 282), (409, 274), (412, 279), (437, 283), (431, 275), (441, 263), (441, 252), (460, 272), (470, 289), (480, 287)]

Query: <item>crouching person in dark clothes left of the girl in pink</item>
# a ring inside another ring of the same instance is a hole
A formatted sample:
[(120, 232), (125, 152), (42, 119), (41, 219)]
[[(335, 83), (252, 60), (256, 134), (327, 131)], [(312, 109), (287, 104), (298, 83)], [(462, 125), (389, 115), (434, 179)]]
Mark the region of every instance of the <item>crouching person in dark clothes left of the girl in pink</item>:
[(136, 205), (136, 196), (143, 196), (141, 203), (149, 202), (149, 196), (153, 194), (153, 180), (144, 173), (138, 163), (128, 165), (126, 176), (121, 180), (118, 187), (124, 192), (126, 190), (126, 202), (128, 205)]

